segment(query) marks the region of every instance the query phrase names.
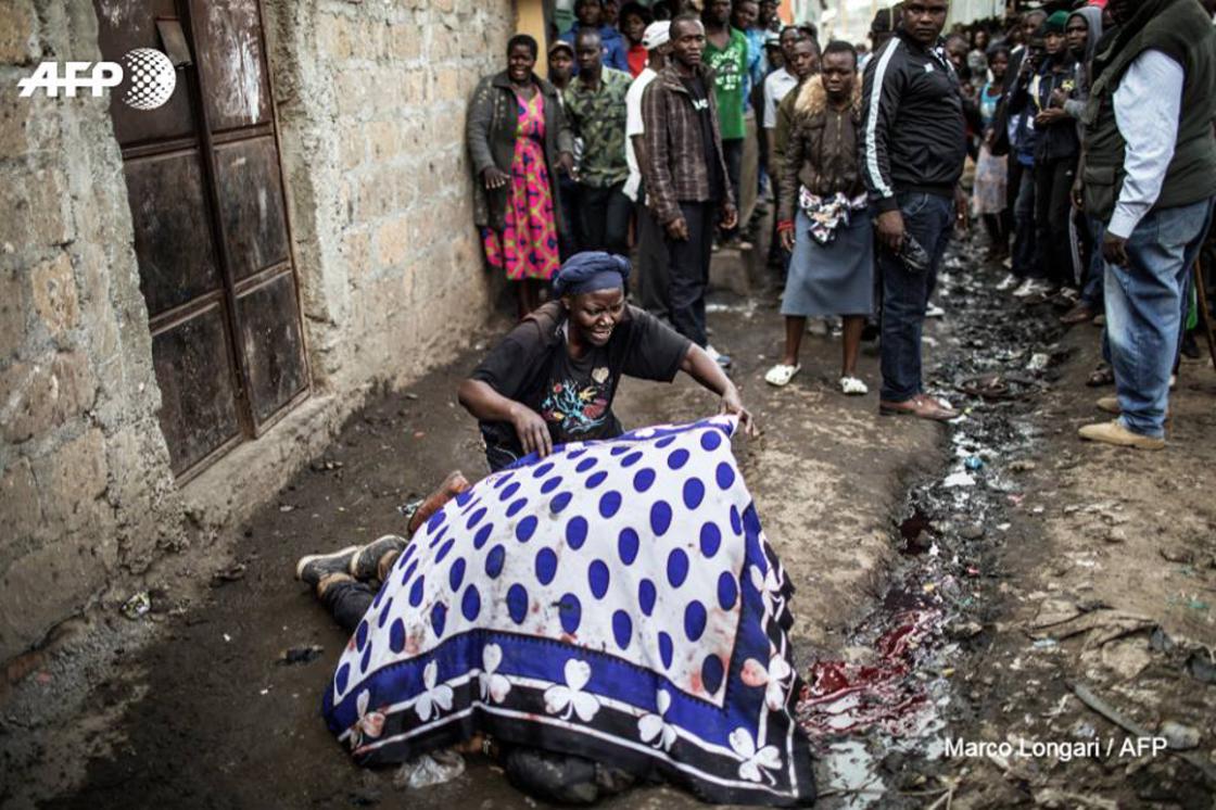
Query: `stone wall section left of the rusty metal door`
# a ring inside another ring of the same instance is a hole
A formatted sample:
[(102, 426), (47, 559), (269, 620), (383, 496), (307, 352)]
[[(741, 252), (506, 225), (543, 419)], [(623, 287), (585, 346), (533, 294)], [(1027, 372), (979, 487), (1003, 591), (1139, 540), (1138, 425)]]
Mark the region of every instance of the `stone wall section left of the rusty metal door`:
[(96, 43), (90, 4), (0, 4), (0, 660), (181, 535), (107, 100), (17, 97)]

